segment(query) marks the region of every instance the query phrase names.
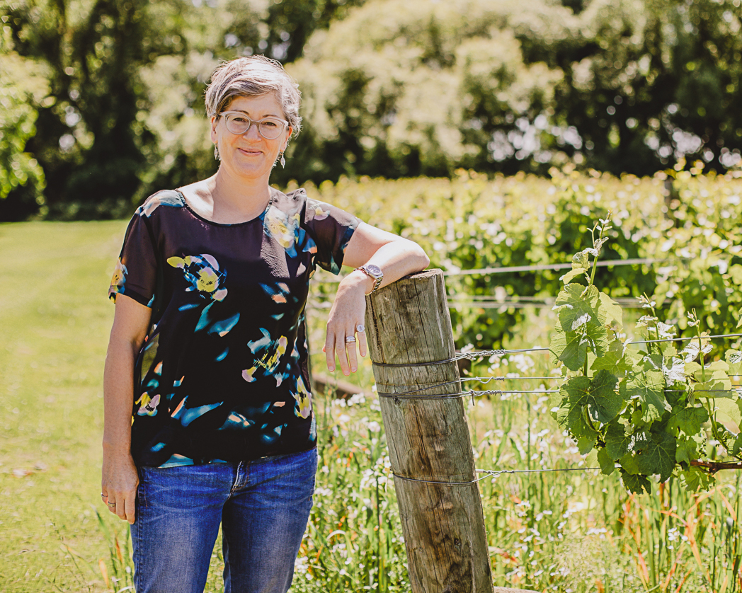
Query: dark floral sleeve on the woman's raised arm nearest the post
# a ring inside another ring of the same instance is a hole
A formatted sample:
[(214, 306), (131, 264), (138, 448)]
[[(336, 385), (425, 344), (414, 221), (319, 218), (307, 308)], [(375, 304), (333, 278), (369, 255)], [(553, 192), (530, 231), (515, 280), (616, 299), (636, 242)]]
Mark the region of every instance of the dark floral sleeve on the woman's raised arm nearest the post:
[(317, 244), (315, 264), (332, 274), (340, 274), (345, 249), (361, 220), (340, 208), (307, 198), (304, 221)]

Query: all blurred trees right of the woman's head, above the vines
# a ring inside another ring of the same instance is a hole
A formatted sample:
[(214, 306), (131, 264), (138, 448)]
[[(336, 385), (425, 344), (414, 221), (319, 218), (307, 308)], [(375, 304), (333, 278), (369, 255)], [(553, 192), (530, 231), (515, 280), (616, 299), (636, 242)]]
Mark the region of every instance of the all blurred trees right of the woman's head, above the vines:
[(303, 176), (739, 162), (738, 0), (573, 4), (377, 0), (333, 24), (293, 69)]

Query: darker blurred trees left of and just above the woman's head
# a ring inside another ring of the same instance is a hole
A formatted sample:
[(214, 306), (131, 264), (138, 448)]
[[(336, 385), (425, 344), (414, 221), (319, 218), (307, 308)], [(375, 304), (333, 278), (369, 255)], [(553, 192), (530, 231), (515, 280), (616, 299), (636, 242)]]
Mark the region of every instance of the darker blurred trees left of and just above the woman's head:
[[(0, 202), (0, 219), (38, 211), (43, 179), (49, 216), (105, 218), (124, 215), (154, 188), (210, 175), (216, 167), (203, 90), (214, 67), (236, 54), (295, 58), (312, 30), (343, 10), (335, 0), (286, 6), (261, 0), (0, 1), (7, 39), (2, 63), (15, 55), (29, 73), (44, 73), (47, 85), (42, 97), (13, 90), (29, 115), (14, 122), (18, 133), (6, 136), (16, 139), (8, 162), (30, 161), (32, 154), (39, 165), (33, 179), (19, 173), (19, 182), (3, 185), (10, 196)], [(23, 73), (14, 75), (14, 87), (30, 84)], [(8, 101), (2, 103), (4, 121), (17, 117)]]

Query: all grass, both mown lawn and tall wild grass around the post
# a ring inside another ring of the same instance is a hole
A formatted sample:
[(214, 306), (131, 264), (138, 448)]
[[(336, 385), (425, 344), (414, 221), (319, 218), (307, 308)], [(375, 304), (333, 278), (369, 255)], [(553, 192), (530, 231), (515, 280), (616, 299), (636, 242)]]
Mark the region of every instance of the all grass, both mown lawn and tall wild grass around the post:
[[(0, 590), (131, 586), (124, 523), (99, 498), (105, 297), (125, 222), (0, 225)], [(521, 344), (541, 345), (548, 311)], [(311, 343), (318, 351), (321, 313)], [(321, 354), (313, 362), (321, 365)], [(478, 374), (540, 375), (540, 355)], [(366, 362), (358, 380), (370, 393)], [(550, 388), (548, 381), (514, 388)], [(547, 396), (467, 400), (479, 468), (589, 466)], [(292, 591), (407, 592), (406, 555), (378, 400), (316, 400), (321, 461)], [(562, 592), (740, 590), (738, 474), (692, 496), (672, 480), (634, 497), (596, 471), (501, 474), (480, 483), (496, 584)], [(208, 592), (220, 590), (214, 551)], [(131, 590), (131, 589), (128, 589)]]

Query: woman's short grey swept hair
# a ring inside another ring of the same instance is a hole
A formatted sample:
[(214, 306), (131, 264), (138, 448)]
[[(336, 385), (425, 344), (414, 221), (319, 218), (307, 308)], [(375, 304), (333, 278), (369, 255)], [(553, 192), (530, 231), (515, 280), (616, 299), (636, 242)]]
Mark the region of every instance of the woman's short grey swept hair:
[(266, 56), (246, 56), (224, 62), (211, 74), (206, 88), (206, 115), (217, 116), (234, 97), (255, 97), (273, 93), (294, 135), (301, 130), (299, 85), (283, 70), (280, 62)]

